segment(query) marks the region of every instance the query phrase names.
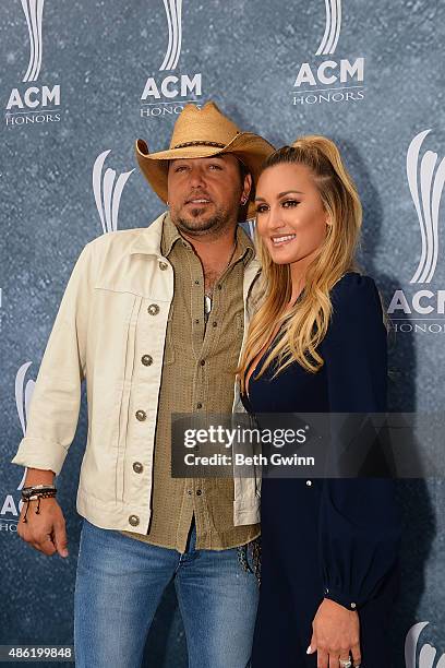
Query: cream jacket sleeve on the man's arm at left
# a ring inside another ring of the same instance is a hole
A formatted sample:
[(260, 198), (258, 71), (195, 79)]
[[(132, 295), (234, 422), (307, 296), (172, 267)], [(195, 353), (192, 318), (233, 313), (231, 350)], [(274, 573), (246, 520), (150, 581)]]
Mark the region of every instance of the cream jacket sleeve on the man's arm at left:
[(12, 464), (59, 475), (79, 420), (86, 372), (92, 242), (82, 250), (48, 338), (31, 398), (26, 433)]

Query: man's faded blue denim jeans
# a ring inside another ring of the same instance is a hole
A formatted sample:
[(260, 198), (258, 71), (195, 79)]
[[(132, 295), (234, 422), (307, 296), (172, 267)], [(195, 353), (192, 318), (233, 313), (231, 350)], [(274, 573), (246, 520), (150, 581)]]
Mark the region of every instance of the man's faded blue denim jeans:
[(172, 578), (189, 668), (249, 666), (256, 577), (241, 565), (237, 548), (195, 550), (195, 538), (193, 524), (180, 553), (84, 518), (74, 592), (76, 668), (139, 668), (154, 615)]

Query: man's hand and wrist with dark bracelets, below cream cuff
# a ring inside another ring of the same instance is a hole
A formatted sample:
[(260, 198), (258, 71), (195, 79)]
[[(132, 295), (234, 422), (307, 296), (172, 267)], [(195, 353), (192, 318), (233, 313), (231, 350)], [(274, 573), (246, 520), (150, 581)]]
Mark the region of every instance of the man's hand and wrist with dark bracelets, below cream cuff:
[[(28, 468), (24, 487), (52, 484), (55, 475), (52, 470)], [(59, 503), (55, 497), (40, 499), (40, 509), (37, 514), (38, 501), (36, 499), (23, 504), (17, 524), (19, 536), (44, 554), (59, 552), (61, 557), (68, 557), (65, 521)], [(27, 508), (28, 503), (29, 508)], [(23, 522), (25, 513), (26, 522)]]

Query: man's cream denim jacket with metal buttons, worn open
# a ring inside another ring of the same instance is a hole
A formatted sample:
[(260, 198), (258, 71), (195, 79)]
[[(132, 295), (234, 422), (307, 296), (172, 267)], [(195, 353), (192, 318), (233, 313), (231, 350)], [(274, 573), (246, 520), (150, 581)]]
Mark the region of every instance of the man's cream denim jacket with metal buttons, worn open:
[[(41, 360), (25, 438), (11, 461), (59, 475), (74, 439), (85, 379), (88, 433), (77, 511), (103, 528), (140, 534), (147, 533), (151, 517), (156, 414), (173, 296), (173, 271), (160, 253), (164, 216), (148, 227), (100, 236), (81, 252)], [(244, 272), (244, 306), (258, 269), (253, 259)], [(244, 339), (246, 322), (244, 308)], [(233, 410), (243, 411), (237, 383)], [(260, 521), (258, 489), (258, 479), (234, 479), (236, 526)]]

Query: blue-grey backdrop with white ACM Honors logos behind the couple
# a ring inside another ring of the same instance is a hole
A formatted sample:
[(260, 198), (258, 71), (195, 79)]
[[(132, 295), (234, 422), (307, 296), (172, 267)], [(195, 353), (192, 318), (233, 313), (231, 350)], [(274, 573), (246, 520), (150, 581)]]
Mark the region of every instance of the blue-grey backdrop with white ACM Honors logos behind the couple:
[[(24, 469), (10, 461), (74, 262), (94, 237), (163, 211), (134, 142), (167, 147), (184, 104), (213, 99), (277, 146), (338, 143), (364, 208), (361, 264), (392, 318), (390, 406), (443, 409), (444, 41), (445, 4), (431, 0), (1, 2), (0, 644), (73, 642), (85, 397), (58, 479), (67, 560), (17, 537)], [(444, 668), (445, 485), (405, 480), (399, 498), (396, 666)], [(172, 589), (145, 656), (187, 666)]]

